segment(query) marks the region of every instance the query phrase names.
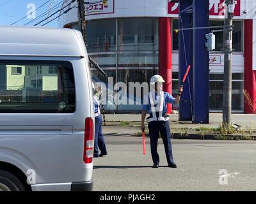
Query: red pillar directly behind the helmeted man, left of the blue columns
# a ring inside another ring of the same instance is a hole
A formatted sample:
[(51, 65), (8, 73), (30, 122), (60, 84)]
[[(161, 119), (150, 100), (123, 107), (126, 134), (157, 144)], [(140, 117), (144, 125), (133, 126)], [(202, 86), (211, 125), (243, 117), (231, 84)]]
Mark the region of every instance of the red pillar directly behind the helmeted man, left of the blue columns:
[[(172, 94), (172, 18), (159, 18), (159, 75), (164, 78), (163, 91)], [(172, 113), (172, 105), (168, 105)]]

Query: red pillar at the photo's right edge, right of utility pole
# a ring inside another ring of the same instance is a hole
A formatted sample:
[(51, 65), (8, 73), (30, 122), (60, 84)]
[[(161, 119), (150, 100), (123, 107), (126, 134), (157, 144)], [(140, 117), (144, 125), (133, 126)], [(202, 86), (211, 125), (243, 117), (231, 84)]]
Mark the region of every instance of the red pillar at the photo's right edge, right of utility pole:
[(244, 20), (244, 90), (252, 100), (252, 106), (244, 98), (244, 113), (256, 112), (256, 71), (252, 69), (253, 20)]

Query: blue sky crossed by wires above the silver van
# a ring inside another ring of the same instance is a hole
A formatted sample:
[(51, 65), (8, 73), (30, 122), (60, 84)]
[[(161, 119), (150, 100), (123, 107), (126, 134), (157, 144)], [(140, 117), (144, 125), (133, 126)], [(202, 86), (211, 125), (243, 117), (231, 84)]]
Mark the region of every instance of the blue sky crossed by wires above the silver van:
[[(28, 26), (29, 25), (33, 26), (34, 24), (47, 18), (47, 14), (45, 12), (49, 11), (50, 2), (52, 2), (51, 7), (54, 8), (54, 6), (56, 5), (61, 6), (62, 1), (63, 0), (51, 0), (51, 1), (50, 0), (0, 0), (0, 26), (11, 25), (23, 17), (24, 19), (20, 20), (19, 22), (13, 25), (24, 25), (29, 21), (33, 20), (33, 22), (30, 22), (28, 24)], [(45, 4), (45, 5), (42, 6), (42, 4)], [(39, 8), (40, 6), (42, 6), (42, 8)], [(52, 9), (51, 13), (58, 11), (60, 8), (61, 7), (56, 7), (55, 10)], [(31, 15), (27, 15), (27, 13), (31, 13), (31, 12), (33, 12)], [(46, 15), (40, 17), (40, 15), (42, 15), (43, 13), (45, 13)], [(54, 15), (54, 17), (57, 17), (58, 13)], [(35, 19), (36, 17), (37, 19)], [(51, 19), (52, 18), (50, 18), (50, 20)], [(47, 20), (42, 24), (45, 24), (45, 23), (47, 23)], [(39, 25), (42, 25), (42, 24), (39, 24)], [(58, 27), (58, 18), (50, 22), (49, 24), (45, 25), (45, 27)]]

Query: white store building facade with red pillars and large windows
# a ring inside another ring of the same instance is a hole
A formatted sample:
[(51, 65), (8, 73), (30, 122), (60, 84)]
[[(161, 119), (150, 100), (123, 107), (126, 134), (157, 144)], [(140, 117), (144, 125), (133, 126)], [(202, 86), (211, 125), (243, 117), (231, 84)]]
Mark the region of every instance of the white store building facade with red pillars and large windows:
[[(143, 83), (149, 82), (152, 75), (161, 73), (166, 80), (165, 89), (175, 96), (179, 87), (179, 34), (174, 31), (179, 27), (179, 3), (170, 0), (84, 0), (84, 3), (88, 54), (108, 77), (113, 77), (114, 83)], [(223, 25), (225, 1), (209, 0), (209, 3), (210, 26)], [(256, 43), (253, 43), (256, 40), (256, 1), (237, 0), (235, 3), (232, 111), (253, 113), (256, 110)], [(59, 24), (60, 27), (79, 29), (77, 9), (62, 15)], [(209, 110), (212, 112), (222, 111), (222, 51), (223, 33), (219, 32), (216, 33), (216, 49), (209, 59)], [(108, 83), (95, 69), (92, 73)], [(129, 99), (135, 98), (133, 88), (129, 89), (128, 85), (125, 92)], [(141, 92), (139, 100), (142, 98)], [(140, 108), (136, 104), (106, 107), (109, 112), (136, 112)]]

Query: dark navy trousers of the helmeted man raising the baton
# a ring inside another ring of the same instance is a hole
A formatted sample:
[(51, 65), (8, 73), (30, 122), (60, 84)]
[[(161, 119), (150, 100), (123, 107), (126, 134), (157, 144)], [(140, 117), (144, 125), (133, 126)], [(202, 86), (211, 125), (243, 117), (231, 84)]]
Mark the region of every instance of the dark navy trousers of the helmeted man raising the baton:
[(163, 139), (165, 155), (168, 164), (173, 163), (172, 142), (169, 121), (152, 121), (148, 122), (150, 135), (151, 156), (154, 164), (159, 164), (159, 155), (157, 153), (157, 141), (159, 132)]

